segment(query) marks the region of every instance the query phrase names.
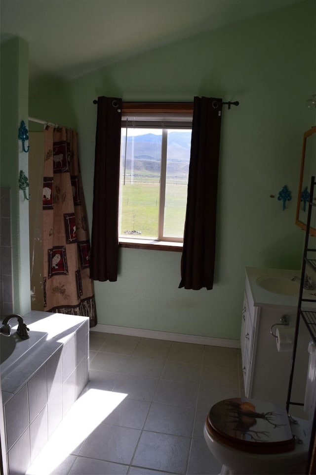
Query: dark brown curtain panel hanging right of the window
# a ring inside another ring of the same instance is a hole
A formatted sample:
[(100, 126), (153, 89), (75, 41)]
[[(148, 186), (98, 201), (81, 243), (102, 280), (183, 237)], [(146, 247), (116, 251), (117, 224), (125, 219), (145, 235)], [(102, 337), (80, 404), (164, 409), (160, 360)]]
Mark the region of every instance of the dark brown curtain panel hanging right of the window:
[(195, 97), (179, 288), (213, 288), (222, 99)]

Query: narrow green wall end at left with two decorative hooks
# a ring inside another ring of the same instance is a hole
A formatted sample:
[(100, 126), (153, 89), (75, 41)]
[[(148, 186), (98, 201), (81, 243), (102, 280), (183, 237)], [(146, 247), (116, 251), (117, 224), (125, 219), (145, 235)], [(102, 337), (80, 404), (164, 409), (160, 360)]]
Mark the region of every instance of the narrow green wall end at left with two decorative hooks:
[(0, 185), (11, 190), (13, 311), (31, 309), (29, 258), (29, 205), (18, 188), (19, 172), (28, 175), (28, 154), (18, 141), (29, 107), (29, 46), (19, 38), (1, 44)]

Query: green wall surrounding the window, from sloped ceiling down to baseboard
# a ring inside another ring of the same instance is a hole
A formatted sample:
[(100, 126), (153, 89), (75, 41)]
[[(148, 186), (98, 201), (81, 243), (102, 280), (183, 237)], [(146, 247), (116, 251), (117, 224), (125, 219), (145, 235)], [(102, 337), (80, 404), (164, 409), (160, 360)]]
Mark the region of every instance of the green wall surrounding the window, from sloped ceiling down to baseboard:
[[(100, 324), (239, 338), (244, 267), (299, 269), (295, 226), (303, 132), (315, 114), (315, 2), (209, 31), (112, 64), (30, 98), (30, 115), (75, 127), (89, 227), (98, 95), (239, 100), (224, 109), (213, 290), (178, 289), (181, 253), (120, 249), (116, 283), (95, 283)], [(282, 211), (284, 185), (292, 201)], [(271, 195), (275, 197), (272, 198)]]

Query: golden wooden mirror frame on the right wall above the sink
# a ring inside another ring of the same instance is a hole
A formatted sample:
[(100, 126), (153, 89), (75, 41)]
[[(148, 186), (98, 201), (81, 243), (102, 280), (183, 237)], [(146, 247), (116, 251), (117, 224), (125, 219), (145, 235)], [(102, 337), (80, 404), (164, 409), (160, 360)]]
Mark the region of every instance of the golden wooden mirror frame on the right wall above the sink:
[[(310, 130), (304, 133), (304, 138), (303, 138), (303, 149), (302, 149), (302, 160), (301, 160), (301, 173), (300, 173), (300, 183), (299, 183), (299, 189), (298, 189), (298, 197), (297, 197), (297, 207), (296, 207), (296, 221), (295, 224), (299, 226), (301, 229), (306, 230), (306, 223), (302, 221), (302, 213), (304, 212), (302, 210), (302, 202), (301, 202), (301, 195), (302, 195), (302, 189), (305, 189), (307, 187), (308, 191), (310, 190), (311, 186), (311, 178), (312, 176), (316, 176), (316, 147), (315, 150), (312, 151), (314, 156), (306, 156), (307, 152), (307, 140), (311, 136), (316, 134), (316, 126), (312, 127)], [(315, 136), (316, 137), (316, 136)], [(312, 168), (314, 167), (314, 168)], [(310, 173), (307, 170), (312, 170), (313, 169), (313, 174)], [(304, 173), (305, 172), (305, 173)], [(304, 181), (304, 183), (303, 183)], [(303, 188), (304, 187), (304, 188)], [(306, 203), (306, 217), (307, 217), (307, 203)], [(312, 236), (316, 237), (316, 229), (311, 227), (310, 228), (310, 234)]]

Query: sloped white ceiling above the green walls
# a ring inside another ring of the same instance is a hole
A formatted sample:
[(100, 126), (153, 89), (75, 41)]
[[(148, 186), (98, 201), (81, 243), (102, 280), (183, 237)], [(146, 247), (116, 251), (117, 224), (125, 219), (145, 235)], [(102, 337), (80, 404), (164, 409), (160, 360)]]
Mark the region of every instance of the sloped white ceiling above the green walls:
[(0, 0), (1, 41), (29, 43), (30, 90), (300, 0)]

